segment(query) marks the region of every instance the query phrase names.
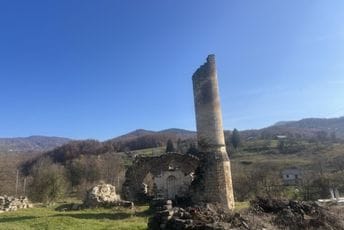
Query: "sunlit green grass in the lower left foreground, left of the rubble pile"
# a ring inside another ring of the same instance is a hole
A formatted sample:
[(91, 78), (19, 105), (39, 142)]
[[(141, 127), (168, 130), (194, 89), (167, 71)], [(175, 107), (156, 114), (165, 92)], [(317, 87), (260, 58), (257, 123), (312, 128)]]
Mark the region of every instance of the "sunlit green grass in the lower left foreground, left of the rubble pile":
[(0, 229), (147, 229), (148, 206), (136, 211), (117, 209), (87, 209), (55, 211), (56, 207), (34, 207), (0, 214)]

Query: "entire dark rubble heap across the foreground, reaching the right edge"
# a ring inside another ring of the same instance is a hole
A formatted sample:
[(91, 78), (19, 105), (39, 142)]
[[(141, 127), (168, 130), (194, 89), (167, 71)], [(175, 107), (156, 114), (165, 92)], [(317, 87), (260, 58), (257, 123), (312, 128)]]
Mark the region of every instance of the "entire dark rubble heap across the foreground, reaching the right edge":
[(173, 207), (171, 201), (154, 201), (155, 215), (150, 230), (226, 230), (226, 229), (321, 229), (344, 230), (343, 215), (315, 202), (257, 198), (241, 214), (225, 212), (211, 205)]

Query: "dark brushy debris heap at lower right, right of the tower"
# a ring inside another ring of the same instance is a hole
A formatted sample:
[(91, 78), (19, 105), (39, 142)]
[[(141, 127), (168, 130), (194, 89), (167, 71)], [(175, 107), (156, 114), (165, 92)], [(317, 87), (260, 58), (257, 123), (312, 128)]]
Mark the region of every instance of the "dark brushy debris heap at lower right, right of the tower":
[(315, 202), (257, 198), (250, 211), (257, 216), (269, 214), (281, 229), (344, 229), (341, 218)]

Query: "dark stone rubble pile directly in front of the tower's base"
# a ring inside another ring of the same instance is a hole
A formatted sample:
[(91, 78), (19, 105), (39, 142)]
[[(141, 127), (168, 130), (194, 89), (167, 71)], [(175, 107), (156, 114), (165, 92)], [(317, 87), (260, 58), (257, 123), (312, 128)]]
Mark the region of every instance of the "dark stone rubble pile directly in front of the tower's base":
[(244, 218), (238, 213), (227, 213), (221, 208), (210, 204), (197, 205), (187, 208), (172, 207), (172, 201), (165, 201), (149, 219), (148, 228), (151, 230), (224, 230), (249, 229)]

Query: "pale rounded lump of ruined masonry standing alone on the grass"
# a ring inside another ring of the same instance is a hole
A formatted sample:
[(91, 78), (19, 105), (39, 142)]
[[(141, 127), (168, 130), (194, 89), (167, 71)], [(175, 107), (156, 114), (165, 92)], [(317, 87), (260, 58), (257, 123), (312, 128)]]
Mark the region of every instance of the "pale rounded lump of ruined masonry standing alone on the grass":
[(111, 184), (99, 184), (87, 191), (86, 198), (81, 208), (96, 208), (96, 207), (114, 207), (123, 206), (133, 208), (134, 203), (130, 201), (121, 200), (116, 193), (115, 186)]

